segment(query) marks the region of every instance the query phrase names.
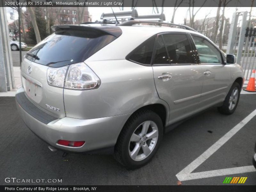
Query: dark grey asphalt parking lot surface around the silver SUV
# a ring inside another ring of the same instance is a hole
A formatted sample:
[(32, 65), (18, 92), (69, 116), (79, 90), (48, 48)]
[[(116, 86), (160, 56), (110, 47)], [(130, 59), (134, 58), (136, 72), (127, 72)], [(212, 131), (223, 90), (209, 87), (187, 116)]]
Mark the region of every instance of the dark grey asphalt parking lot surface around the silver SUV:
[[(0, 97), (0, 184), (5, 178), (62, 179), (61, 185), (177, 185), (176, 174), (218, 142), (227, 132), (256, 109), (256, 95), (241, 95), (233, 115), (218, 113), (216, 108), (198, 114), (164, 135), (156, 156), (146, 166), (126, 170), (112, 156), (75, 155), (62, 157), (51, 152), (20, 119), (14, 97)], [(241, 123), (240, 123), (241, 124)], [(240, 125), (239, 124), (239, 125)], [(204, 172), (229, 168), (252, 167), (256, 141), (256, 116), (209, 158), (192, 171), (203, 178), (181, 181), (182, 185), (223, 185), (226, 177), (248, 177), (243, 185), (256, 184), (256, 170), (222, 176), (205, 176)], [(200, 158), (199, 158), (200, 159)], [(227, 185), (227, 184), (226, 184)]]

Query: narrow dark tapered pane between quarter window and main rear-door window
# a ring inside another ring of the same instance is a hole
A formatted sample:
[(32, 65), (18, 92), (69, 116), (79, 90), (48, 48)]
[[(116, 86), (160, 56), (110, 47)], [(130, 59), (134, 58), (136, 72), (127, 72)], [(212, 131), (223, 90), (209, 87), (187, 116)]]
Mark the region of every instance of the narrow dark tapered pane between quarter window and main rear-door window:
[(153, 64), (170, 64), (162, 36), (156, 42), (156, 55)]

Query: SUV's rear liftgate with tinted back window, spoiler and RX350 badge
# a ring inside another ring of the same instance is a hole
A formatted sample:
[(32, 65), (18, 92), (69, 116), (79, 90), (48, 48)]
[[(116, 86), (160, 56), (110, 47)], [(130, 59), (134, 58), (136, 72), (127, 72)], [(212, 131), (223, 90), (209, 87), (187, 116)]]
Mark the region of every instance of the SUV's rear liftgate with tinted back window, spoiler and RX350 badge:
[(120, 36), (121, 29), (115, 26), (96, 28), (74, 25), (53, 26), (52, 29), (55, 31), (52, 35), (25, 55), (21, 65), (21, 79), (31, 102), (45, 112), (63, 118), (66, 116), (63, 86), (49, 85), (47, 69), (83, 62)]

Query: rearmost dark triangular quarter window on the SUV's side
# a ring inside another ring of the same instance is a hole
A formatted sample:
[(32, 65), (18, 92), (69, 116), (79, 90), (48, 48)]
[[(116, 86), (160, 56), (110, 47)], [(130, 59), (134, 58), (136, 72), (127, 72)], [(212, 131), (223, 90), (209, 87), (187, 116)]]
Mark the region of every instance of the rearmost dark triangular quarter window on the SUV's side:
[(137, 47), (129, 56), (129, 60), (141, 64), (149, 65), (151, 63), (156, 37), (151, 37), (146, 42)]

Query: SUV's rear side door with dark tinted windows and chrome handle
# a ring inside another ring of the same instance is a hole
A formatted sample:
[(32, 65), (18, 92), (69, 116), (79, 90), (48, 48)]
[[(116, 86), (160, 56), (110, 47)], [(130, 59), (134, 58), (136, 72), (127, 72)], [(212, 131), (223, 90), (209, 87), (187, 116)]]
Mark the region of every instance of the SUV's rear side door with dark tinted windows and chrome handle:
[(157, 36), (152, 67), (158, 95), (170, 107), (169, 124), (198, 111), (203, 73), (194, 56), (186, 33)]

